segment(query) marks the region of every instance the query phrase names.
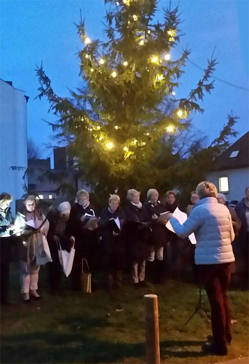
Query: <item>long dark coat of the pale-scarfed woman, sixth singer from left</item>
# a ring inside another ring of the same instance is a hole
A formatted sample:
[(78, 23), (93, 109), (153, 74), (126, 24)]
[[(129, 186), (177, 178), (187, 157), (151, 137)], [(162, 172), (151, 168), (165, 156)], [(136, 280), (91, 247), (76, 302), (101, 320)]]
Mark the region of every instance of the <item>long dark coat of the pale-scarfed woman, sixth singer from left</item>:
[(150, 254), (151, 229), (143, 225), (132, 227), (129, 221), (148, 222), (147, 211), (144, 207), (137, 208), (128, 202), (125, 208), (124, 236), (131, 259), (145, 260)]

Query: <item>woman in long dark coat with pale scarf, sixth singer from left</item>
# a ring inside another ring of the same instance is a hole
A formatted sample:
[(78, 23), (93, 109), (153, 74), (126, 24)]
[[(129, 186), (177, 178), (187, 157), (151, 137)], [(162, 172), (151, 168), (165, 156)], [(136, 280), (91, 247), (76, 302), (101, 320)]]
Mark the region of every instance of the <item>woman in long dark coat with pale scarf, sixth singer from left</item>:
[(142, 224), (148, 221), (148, 216), (139, 198), (140, 192), (136, 189), (127, 191), (125, 238), (132, 265), (132, 281), (137, 287), (146, 286), (144, 282), (145, 261), (150, 254), (151, 232), (148, 224)]

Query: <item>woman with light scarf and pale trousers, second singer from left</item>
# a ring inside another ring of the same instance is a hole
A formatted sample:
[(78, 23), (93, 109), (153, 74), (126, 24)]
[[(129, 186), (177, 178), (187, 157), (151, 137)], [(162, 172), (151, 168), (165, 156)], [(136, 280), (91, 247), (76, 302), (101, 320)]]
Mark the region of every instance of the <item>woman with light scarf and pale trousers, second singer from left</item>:
[(26, 198), (24, 212), (18, 215), (33, 228), (33, 230), (25, 228), (22, 231), (22, 244), (19, 249), (21, 293), (24, 302), (29, 302), (30, 298), (40, 298), (37, 293), (40, 266), (36, 264), (36, 254), (43, 245), (42, 234), (47, 235), (49, 222), (44, 214), (36, 209), (36, 199), (33, 195)]

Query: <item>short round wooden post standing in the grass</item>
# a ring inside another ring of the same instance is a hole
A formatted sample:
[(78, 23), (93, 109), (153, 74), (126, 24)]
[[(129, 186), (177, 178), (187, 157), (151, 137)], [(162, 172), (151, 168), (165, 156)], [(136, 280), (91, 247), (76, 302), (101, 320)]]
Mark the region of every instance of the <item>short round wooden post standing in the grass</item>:
[(147, 364), (160, 364), (157, 295), (144, 295), (145, 354)]

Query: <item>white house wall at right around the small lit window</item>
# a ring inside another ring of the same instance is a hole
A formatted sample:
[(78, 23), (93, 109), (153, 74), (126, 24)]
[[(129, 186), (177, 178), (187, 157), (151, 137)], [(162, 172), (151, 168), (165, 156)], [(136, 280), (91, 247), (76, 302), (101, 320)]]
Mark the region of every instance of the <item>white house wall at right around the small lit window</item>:
[(241, 168), (236, 170), (226, 170), (213, 172), (207, 177), (207, 181), (213, 182), (218, 192), (219, 191), (219, 177), (228, 177), (229, 192), (224, 193), (227, 200), (240, 201), (245, 197), (245, 189), (249, 186), (249, 169)]

